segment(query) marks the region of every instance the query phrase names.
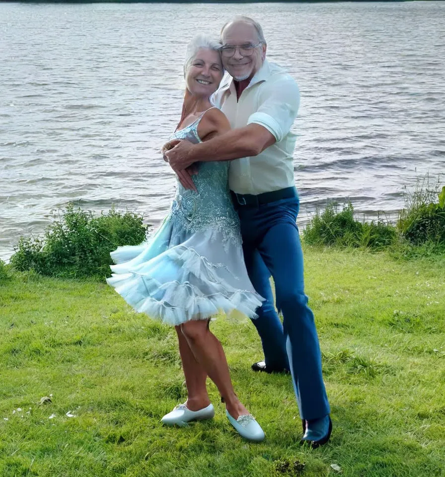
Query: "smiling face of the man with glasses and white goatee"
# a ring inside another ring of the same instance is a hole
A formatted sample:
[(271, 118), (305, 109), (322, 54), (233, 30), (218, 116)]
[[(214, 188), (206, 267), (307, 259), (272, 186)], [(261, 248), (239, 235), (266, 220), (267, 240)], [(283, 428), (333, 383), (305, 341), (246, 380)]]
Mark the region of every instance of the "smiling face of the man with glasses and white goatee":
[[(224, 68), (237, 81), (252, 78), (263, 65), (264, 57), (266, 56), (266, 45), (264, 44), (260, 44), (253, 49), (251, 48), (250, 51), (248, 48), (242, 48), (259, 43), (255, 27), (243, 22), (230, 23), (224, 28), (221, 39), (223, 42)], [(224, 49), (229, 50), (229, 53), (231, 53), (228, 47), (237, 47), (233, 56), (226, 56), (224, 53)]]

